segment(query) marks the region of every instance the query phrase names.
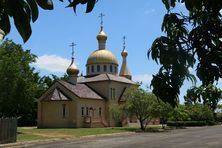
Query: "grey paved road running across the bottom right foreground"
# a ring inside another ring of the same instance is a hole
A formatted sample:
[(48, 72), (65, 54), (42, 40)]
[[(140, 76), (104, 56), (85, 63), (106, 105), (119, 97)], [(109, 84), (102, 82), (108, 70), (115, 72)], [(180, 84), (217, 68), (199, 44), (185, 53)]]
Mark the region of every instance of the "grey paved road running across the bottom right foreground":
[(61, 140), (33, 148), (222, 148), (222, 126)]

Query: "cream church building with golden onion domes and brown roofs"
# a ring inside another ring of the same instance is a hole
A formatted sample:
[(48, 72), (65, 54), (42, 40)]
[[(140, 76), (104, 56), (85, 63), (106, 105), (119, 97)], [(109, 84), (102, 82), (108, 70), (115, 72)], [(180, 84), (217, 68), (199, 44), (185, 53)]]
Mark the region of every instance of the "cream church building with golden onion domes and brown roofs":
[(98, 49), (86, 62), (86, 75), (79, 76), (74, 56), (67, 69), (68, 81), (56, 81), (38, 100), (38, 128), (115, 126), (109, 106), (125, 102), (124, 92), (131, 85), (127, 51), (121, 52), (122, 66), (106, 48), (107, 35), (97, 35)]

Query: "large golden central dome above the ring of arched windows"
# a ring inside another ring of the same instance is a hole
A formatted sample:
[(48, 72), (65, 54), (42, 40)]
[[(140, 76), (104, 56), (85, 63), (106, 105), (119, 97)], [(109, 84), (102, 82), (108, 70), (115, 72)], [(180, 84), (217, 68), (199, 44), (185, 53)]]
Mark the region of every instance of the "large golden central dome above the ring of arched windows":
[(90, 64), (116, 64), (118, 65), (118, 62), (116, 60), (116, 57), (113, 55), (112, 52), (109, 50), (103, 49), (103, 50), (96, 50), (89, 56), (87, 60), (87, 65)]

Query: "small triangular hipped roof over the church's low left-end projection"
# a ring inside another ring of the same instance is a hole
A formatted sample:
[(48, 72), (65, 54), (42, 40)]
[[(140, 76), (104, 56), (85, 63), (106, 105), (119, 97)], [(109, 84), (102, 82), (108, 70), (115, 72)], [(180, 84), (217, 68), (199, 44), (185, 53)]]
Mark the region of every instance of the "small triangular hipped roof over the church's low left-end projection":
[(68, 98), (59, 88), (55, 88), (52, 92), (46, 95), (43, 98), (43, 101), (70, 101), (71, 99)]

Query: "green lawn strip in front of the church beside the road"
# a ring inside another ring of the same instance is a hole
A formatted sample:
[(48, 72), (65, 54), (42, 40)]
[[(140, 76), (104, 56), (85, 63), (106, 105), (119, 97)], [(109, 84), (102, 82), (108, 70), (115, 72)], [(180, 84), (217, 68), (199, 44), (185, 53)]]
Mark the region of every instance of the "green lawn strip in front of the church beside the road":
[(17, 140), (41, 140), (50, 138), (73, 139), (88, 135), (112, 134), (122, 132), (135, 132), (139, 128), (114, 127), (114, 128), (55, 128), (37, 129), (36, 127), (18, 127)]

